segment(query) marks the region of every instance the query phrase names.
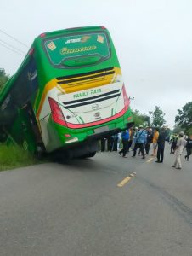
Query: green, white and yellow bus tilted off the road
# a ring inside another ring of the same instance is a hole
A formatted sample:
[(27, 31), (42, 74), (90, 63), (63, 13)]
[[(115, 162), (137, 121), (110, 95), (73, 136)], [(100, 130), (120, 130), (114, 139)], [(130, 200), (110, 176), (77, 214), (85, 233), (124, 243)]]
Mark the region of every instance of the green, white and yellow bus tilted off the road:
[(0, 132), (34, 154), (93, 156), (100, 138), (133, 125), (110, 33), (90, 26), (35, 38), (0, 94)]

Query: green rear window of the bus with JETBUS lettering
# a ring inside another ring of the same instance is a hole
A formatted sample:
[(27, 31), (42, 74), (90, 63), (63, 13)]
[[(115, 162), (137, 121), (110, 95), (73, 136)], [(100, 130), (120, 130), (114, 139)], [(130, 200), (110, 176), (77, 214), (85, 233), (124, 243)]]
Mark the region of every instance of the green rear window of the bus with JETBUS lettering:
[(104, 32), (51, 38), (44, 42), (48, 58), (54, 66), (91, 65), (110, 57), (110, 45)]

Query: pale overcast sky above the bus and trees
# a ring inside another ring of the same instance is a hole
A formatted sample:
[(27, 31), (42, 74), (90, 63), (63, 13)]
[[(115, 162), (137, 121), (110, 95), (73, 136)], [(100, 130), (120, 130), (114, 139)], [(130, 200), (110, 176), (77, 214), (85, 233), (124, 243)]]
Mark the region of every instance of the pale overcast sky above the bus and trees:
[[(42, 32), (103, 25), (110, 31), (133, 109), (160, 106), (167, 125), (192, 101), (192, 0), (6, 0), (1, 3), (0, 68), (14, 74)], [(3, 31), (3, 32), (1, 32)]]

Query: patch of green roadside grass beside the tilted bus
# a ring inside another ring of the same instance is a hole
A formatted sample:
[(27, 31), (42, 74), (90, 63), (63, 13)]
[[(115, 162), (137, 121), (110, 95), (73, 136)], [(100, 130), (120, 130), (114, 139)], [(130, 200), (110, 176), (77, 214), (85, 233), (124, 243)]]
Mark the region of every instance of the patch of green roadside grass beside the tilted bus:
[(0, 144), (0, 171), (36, 163), (37, 159), (24, 148)]

